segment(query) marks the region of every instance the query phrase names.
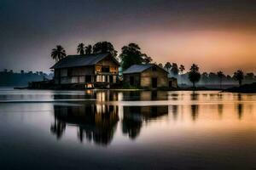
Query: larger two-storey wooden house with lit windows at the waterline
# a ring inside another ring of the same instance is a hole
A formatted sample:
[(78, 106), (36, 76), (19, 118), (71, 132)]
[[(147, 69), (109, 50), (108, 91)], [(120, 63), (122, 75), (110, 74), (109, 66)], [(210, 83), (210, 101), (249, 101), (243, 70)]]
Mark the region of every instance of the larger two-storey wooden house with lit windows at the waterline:
[(109, 53), (68, 55), (50, 69), (55, 71), (55, 84), (64, 87), (109, 87), (119, 76), (119, 62)]

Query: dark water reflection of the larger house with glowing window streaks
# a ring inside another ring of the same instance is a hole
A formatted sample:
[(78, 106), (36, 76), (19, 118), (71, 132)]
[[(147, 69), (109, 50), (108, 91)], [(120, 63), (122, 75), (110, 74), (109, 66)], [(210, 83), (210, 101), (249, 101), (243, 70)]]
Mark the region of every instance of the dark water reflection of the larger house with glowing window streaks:
[(118, 106), (88, 104), (81, 106), (55, 105), (55, 122), (51, 132), (59, 139), (66, 125), (78, 127), (78, 139), (95, 144), (110, 144), (119, 121)]

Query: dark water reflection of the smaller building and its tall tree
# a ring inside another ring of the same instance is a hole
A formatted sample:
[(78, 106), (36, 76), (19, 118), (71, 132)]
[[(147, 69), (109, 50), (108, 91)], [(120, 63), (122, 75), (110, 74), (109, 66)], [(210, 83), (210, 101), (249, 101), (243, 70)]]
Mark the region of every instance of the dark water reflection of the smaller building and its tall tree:
[(165, 115), (168, 115), (168, 105), (124, 106), (123, 133), (128, 134), (130, 139), (136, 139), (141, 131), (143, 122)]

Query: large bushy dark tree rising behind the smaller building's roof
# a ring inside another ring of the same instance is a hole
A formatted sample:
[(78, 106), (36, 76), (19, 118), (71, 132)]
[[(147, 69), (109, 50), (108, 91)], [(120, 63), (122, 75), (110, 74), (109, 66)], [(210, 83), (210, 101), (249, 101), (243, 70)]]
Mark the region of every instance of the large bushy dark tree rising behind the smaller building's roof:
[(147, 54), (142, 54), (141, 48), (136, 43), (130, 43), (128, 46), (122, 48), (119, 54), (123, 70), (129, 68), (131, 65), (148, 64), (152, 59)]

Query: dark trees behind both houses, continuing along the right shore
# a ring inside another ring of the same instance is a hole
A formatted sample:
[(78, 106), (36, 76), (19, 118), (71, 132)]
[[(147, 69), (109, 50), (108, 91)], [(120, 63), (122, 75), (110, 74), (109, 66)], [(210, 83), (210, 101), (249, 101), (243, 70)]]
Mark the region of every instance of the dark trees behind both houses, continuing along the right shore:
[[(118, 55), (117, 50), (113, 47), (111, 42), (96, 42), (94, 45), (85, 46), (83, 42), (78, 44), (78, 54), (98, 54), (98, 53), (110, 53), (113, 57), (119, 59), (122, 70), (129, 68), (131, 65), (140, 65), (154, 63), (168, 71), (169, 77), (177, 77), (179, 84), (193, 84), (196, 83), (201, 85), (212, 85), (219, 84), (220, 88), (222, 84), (239, 84), (256, 82), (256, 77), (253, 72), (244, 73), (241, 70), (234, 72), (233, 75), (224, 75), (222, 71), (218, 72), (200, 72), (198, 65), (191, 65), (187, 72), (184, 65), (177, 65), (177, 63), (166, 62), (166, 64), (157, 64), (153, 61), (148, 54), (144, 54), (137, 43), (129, 43), (121, 48), (121, 53)], [(66, 57), (66, 51), (61, 45), (57, 45), (56, 48), (52, 49), (52, 59), (56, 61)]]

